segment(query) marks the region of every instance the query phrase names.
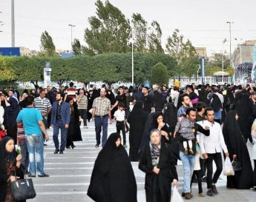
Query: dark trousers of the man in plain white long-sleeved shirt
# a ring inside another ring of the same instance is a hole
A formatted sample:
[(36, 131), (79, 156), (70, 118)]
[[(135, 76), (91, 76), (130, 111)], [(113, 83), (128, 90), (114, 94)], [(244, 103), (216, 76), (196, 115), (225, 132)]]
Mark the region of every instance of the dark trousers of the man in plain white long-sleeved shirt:
[[(208, 158), (206, 159), (206, 167), (207, 167), (207, 189), (211, 189), (212, 184), (216, 184), (218, 178), (223, 169), (221, 153), (215, 154), (207, 154)], [(212, 178), (212, 161), (216, 164), (216, 172), (214, 173), (214, 177)]]

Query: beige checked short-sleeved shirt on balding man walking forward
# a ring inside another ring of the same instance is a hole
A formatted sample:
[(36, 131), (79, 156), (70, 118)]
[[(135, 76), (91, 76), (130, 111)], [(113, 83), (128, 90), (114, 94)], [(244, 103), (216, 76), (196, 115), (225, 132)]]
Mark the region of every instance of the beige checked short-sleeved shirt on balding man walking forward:
[(111, 101), (108, 98), (95, 98), (93, 101), (93, 108), (95, 108), (95, 115), (107, 115), (108, 111), (111, 110)]

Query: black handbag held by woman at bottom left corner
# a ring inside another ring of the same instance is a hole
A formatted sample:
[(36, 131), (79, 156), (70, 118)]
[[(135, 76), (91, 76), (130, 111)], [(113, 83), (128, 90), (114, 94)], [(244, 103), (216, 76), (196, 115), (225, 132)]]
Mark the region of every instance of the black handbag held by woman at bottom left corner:
[[(16, 171), (15, 171), (16, 178)], [(13, 181), (10, 184), (10, 189), (12, 191), (13, 201), (25, 201), (30, 198), (36, 197), (36, 191), (33, 186), (32, 179), (27, 179), (24, 175), (24, 179), (19, 179)]]

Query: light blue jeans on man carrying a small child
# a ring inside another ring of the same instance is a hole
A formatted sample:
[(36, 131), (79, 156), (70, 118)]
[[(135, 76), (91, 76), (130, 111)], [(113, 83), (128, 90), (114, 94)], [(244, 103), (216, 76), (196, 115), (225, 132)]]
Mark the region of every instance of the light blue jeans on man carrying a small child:
[(195, 164), (195, 155), (186, 155), (183, 152), (180, 152), (180, 160), (183, 161), (183, 172), (184, 172), (184, 183), (183, 183), (183, 192), (190, 193), (190, 181), (191, 175), (194, 171)]

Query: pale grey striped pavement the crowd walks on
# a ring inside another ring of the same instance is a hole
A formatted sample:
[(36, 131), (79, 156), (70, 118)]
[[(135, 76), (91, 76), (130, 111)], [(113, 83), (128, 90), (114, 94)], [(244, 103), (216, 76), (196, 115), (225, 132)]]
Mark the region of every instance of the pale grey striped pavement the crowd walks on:
[[(45, 172), (50, 178), (33, 178), (36, 189), (36, 198), (29, 201), (35, 202), (91, 202), (86, 195), (93, 164), (101, 148), (96, 149), (94, 123), (88, 123), (88, 129), (81, 129), (81, 142), (75, 142), (75, 149), (66, 149), (64, 155), (55, 155), (52, 139), (53, 130), (49, 129), (50, 141), (45, 147)], [(108, 127), (108, 134), (115, 132), (115, 124)], [(127, 137), (128, 138), (128, 137)], [(249, 150), (252, 150), (252, 145)], [(128, 149), (127, 149), (128, 151)], [(179, 190), (183, 186), (183, 166), (178, 163), (177, 171), (179, 175)], [(132, 163), (137, 180), (137, 198), (139, 202), (145, 202), (144, 176), (138, 169), (137, 163)], [(220, 194), (214, 197), (197, 197), (197, 184), (192, 186), (194, 198), (190, 201), (214, 201), (214, 202), (255, 202), (256, 192), (252, 190), (226, 189), (226, 177), (221, 176), (217, 189)], [(203, 192), (206, 194), (206, 183), (203, 183)], [(120, 201), (122, 202), (122, 201)], [(132, 202), (132, 201), (131, 201)]]

